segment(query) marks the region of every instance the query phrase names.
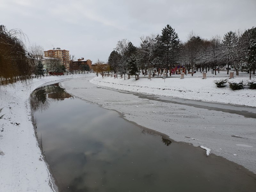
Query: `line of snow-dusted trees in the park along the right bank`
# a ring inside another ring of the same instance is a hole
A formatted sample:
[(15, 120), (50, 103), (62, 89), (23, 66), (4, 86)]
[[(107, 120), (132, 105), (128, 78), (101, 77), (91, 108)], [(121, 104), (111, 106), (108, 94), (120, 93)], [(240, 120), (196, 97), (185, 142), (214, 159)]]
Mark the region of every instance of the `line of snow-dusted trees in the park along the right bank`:
[[(140, 37), (140, 46), (134, 46), (129, 40), (117, 42), (116, 48), (108, 57), (110, 69), (119, 74), (136, 75), (140, 70), (152, 72), (157, 76), (166, 69), (166, 75), (172, 75), (171, 69), (184, 66), (193, 76), (194, 71), (209, 71), (216, 75), (220, 66), (227, 65), (255, 74), (256, 68), (256, 28), (245, 31), (229, 31), (224, 36), (215, 35), (210, 39), (202, 38), (193, 31), (181, 42), (177, 32), (167, 25), (162, 33)], [(160, 70), (158, 70), (160, 69)], [(145, 72), (144, 72), (145, 71)]]

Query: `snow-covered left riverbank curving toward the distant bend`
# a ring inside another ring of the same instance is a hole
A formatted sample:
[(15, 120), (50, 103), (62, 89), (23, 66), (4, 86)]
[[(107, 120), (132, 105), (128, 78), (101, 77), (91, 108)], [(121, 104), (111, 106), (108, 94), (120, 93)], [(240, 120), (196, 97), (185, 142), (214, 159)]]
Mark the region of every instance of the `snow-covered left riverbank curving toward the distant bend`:
[(28, 86), (17, 82), (0, 87), (0, 191), (54, 191), (31, 123), (29, 95), (47, 82), (90, 75), (42, 77)]

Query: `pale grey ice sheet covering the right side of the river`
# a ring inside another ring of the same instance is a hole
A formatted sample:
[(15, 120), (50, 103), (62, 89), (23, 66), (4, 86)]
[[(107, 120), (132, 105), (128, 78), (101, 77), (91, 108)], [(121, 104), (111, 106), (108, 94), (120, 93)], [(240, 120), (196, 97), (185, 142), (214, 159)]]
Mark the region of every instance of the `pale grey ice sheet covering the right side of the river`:
[[(204, 146), (256, 173), (256, 108), (110, 90), (91, 77), (61, 82), (79, 98), (171, 139)], [(195, 93), (196, 94), (196, 93)]]

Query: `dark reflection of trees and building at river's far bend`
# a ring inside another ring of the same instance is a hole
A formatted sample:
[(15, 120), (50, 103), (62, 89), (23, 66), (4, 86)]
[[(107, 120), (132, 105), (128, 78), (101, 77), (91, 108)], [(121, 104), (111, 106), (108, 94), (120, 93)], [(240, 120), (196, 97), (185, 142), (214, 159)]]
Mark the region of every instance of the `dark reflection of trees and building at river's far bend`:
[(30, 95), (30, 105), (32, 111), (46, 110), (51, 103), (48, 98), (59, 101), (64, 100), (65, 98), (73, 98), (73, 96), (65, 92), (63, 88), (59, 87), (58, 83), (39, 87)]

